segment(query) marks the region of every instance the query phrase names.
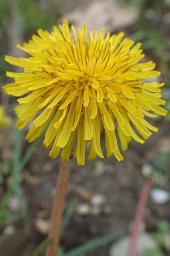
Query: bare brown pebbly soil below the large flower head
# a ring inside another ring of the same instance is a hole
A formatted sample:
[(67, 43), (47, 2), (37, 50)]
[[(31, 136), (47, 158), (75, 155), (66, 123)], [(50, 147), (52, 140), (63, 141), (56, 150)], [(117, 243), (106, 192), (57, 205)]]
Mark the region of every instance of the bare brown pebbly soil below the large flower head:
[[(120, 163), (112, 157), (102, 161), (87, 159), (86, 166), (78, 167), (73, 160), (66, 207), (74, 196), (77, 203), (75, 213), (61, 239), (65, 251), (119, 229), (129, 232), (145, 181), (141, 167), (151, 162), (160, 143), (168, 135), (169, 124), (160, 119), (156, 125), (159, 132), (152, 135), (144, 145), (131, 143), (128, 151), (124, 153), (125, 160)], [(27, 147), (25, 142), (25, 150)], [(45, 239), (44, 225), (37, 228), (36, 221), (49, 220), (58, 168), (59, 158), (49, 159), (48, 150), (41, 145), (37, 147), (23, 172), (22, 185), (27, 197), (27, 217), (10, 224), (15, 227), (10, 236), (5, 234), (4, 229), (1, 230), (0, 255), (28, 256), (33, 247)], [(164, 188), (169, 190), (169, 184), (164, 185)], [(1, 196), (3, 192), (5, 190), (1, 189)], [(100, 207), (95, 209), (94, 205), (86, 214), (77, 210), (82, 203), (91, 205), (91, 198), (96, 194), (104, 196)], [(146, 230), (155, 230), (159, 221), (169, 220), (169, 216), (169, 203), (156, 205), (149, 199), (144, 217)], [(9, 240), (10, 246), (7, 246)], [(110, 244), (86, 255), (108, 255), (109, 246)]]

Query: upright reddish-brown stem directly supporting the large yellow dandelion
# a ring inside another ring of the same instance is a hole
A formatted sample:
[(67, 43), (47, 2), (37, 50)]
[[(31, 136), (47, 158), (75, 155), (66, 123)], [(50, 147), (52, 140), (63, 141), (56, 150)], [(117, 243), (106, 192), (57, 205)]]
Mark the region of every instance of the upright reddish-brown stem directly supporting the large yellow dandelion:
[(58, 253), (62, 214), (65, 203), (69, 174), (70, 162), (61, 162), (58, 174), (58, 181), (56, 185), (56, 192), (54, 195), (52, 215), (50, 220), (50, 229), (48, 235), (49, 238), (52, 238), (52, 242), (46, 249), (46, 256), (57, 256)]

